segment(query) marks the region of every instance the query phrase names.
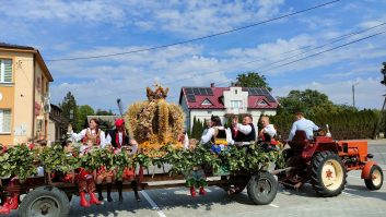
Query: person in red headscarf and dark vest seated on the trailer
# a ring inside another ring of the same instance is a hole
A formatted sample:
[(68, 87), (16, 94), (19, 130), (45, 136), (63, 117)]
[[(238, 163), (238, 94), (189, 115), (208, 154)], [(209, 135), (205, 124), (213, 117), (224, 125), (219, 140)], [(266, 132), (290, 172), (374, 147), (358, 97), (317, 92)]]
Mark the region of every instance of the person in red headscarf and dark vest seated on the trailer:
[[(115, 153), (119, 153), (121, 148), (124, 148), (125, 152), (129, 152), (129, 149), (131, 149), (130, 155), (132, 155), (137, 153), (137, 149), (138, 149), (137, 141), (133, 138), (130, 138), (129, 133), (126, 131), (124, 119), (117, 119), (115, 121), (115, 129), (108, 131), (107, 133), (106, 144), (110, 144), (115, 148)], [(116, 178), (116, 185), (118, 189), (120, 203), (122, 203), (124, 201), (124, 196), (122, 196), (124, 181), (131, 182), (131, 188), (134, 191), (136, 200), (140, 202), (141, 198), (139, 197), (139, 194), (138, 194), (138, 188), (137, 188), (138, 182), (136, 180), (134, 168), (125, 168), (122, 177)]]

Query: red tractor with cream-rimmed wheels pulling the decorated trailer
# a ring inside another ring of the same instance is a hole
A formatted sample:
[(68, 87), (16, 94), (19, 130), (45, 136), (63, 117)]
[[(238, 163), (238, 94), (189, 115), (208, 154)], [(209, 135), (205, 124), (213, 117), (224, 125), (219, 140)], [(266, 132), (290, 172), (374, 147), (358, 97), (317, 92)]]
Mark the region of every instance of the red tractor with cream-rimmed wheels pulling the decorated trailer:
[(347, 172), (362, 170), (362, 179), (369, 190), (378, 190), (383, 184), (383, 172), (376, 161), (371, 160), (366, 141), (334, 141), (329, 136), (315, 136), (309, 141), (304, 131), (296, 131), (284, 149), (286, 168), (279, 174), (284, 186), (299, 189), (311, 182), (320, 196), (336, 196), (346, 184)]

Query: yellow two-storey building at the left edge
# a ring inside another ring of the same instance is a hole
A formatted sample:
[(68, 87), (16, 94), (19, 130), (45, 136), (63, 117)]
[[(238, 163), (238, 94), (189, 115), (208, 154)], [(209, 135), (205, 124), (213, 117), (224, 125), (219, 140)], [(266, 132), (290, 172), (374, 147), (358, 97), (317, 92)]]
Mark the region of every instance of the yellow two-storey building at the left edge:
[(0, 43), (0, 143), (47, 140), (52, 76), (33, 47)]

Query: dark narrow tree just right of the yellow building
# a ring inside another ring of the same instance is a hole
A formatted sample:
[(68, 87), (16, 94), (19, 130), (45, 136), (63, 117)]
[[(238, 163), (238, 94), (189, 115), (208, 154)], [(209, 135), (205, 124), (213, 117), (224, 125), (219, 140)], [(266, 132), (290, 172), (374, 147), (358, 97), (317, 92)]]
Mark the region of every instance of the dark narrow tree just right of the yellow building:
[(72, 125), (73, 130), (80, 130), (78, 129), (78, 106), (77, 106), (77, 100), (75, 97), (71, 94), (71, 92), (67, 93), (65, 96), (65, 99), (61, 104), (59, 104), (59, 107), (62, 111), (63, 117), (66, 117), (69, 120), (69, 123)]

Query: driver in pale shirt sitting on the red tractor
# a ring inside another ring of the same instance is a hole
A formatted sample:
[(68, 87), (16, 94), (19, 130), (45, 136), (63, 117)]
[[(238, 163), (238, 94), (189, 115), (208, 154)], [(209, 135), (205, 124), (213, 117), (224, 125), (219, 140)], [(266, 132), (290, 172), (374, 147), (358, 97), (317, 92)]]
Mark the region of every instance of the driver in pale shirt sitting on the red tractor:
[(314, 131), (319, 130), (319, 126), (317, 126), (313, 121), (305, 119), (303, 112), (296, 112), (295, 119), (296, 121), (292, 124), (289, 141), (292, 141), (296, 131), (304, 131), (307, 140), (313, 140)]

